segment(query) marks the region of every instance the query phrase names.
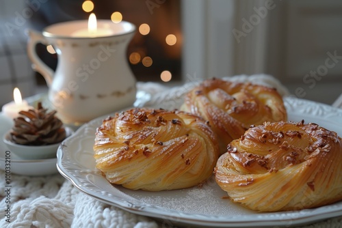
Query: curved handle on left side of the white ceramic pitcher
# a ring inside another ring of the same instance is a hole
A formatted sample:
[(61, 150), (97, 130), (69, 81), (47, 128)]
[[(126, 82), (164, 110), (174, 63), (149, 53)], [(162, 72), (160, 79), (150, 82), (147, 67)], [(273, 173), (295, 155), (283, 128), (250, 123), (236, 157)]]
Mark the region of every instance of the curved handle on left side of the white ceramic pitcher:
[(47, 45), (47, 40), (42, 33), (38, 31), (28, 30), (29, 40), (27, 42), (27, 55), (32, 61), (32, 69), (39, 72), (47, 81), (47, 85), (50, 87), (53, 81), (53, 70), (45, 64), (36, 53), (36, 45), (42, 43)]

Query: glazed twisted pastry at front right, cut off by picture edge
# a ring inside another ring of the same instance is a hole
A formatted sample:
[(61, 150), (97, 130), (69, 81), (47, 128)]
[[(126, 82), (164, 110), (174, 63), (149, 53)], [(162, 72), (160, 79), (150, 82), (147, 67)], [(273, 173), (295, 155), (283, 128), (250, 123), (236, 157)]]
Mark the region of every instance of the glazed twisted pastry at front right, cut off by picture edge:
[(265, 123), (228, 145), (215, 180), (252, 210), (301, 210), (342, 199), (342, 139), (317, 124)]

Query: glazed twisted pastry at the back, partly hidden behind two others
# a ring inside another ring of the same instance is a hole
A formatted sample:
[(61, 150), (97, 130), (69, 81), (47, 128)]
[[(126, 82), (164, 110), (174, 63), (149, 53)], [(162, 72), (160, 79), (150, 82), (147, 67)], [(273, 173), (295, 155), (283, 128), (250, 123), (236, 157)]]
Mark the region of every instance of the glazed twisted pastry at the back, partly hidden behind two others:
[(220, 152), (251, 126), (287, 120), (282, 97), (276, 89), (250, 83), (209, 79), (189, 91), (181, 110), (200, 115), (218, 134)]

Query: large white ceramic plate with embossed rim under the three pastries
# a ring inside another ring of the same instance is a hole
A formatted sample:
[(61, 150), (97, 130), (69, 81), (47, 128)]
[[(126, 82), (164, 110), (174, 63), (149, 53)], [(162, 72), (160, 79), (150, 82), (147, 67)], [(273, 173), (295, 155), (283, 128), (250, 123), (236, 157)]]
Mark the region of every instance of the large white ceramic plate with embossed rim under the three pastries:
[[(342, 136), (342, 110), (297, 98), (285, 98), (289, 120), (302, 119), (336, 131)], [(266, 227), (313, 223), (342, 215), (342, 201), (310, 210), (258, 213), (242, 208), (228, 199), (215, 180), (201, 188), (146, 192), (112, 186), (95, 169), (94, 134), (103, 118), (82, 126), (64, 141), (57, 151), (57, 169), (84, 193), (119, 208), (151, 216), (171, 227), (176, 224), (205, 227)]]

